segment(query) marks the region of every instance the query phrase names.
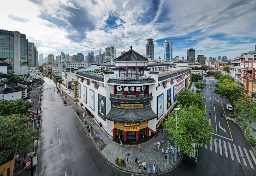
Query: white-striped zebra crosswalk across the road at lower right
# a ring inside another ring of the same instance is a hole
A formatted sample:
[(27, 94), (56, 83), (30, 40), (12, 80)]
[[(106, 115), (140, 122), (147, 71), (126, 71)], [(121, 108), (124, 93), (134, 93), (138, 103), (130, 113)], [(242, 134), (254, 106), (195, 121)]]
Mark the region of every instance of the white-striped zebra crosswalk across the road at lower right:
[(215, 153), (225, 155), (225, 157), (231, 158), (233, 161), (237, 161), (252, 169), (256, 167), (256, 159), (251, 150), (247, 151), (245, 148), (236, 146), (235, 144), (231, 145), (230, 142), (214, 138), (210, 147), (204, 144), (201, 144), (201, 147), (205, 147), (205, 149), (209, 149), (210, 151), (213, 151), (214, 148)]

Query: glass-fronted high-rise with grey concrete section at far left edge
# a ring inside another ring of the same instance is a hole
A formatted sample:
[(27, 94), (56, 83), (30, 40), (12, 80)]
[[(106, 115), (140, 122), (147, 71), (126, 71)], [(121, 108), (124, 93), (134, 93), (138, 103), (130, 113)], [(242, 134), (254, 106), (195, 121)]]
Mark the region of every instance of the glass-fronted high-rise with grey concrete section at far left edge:
[(0, 57), (7, 58), (7, 73), (28, 74), (28, 41), (19, 31), (0, 30)]

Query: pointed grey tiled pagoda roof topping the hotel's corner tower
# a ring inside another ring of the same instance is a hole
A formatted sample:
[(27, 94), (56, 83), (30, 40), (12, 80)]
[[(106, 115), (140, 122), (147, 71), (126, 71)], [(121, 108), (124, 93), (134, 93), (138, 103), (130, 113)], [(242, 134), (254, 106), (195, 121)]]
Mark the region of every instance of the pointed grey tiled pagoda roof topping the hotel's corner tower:
[(140, 55), (139, 53), (133, 51), (133, 47), (131, 46), (131, 49), (127, 51), (125, 54), (119, 56), (114, 61), (115, 62), (121, 62), (121, 61), (133, 61), (133, 62), (148, 62), (149, 60)]

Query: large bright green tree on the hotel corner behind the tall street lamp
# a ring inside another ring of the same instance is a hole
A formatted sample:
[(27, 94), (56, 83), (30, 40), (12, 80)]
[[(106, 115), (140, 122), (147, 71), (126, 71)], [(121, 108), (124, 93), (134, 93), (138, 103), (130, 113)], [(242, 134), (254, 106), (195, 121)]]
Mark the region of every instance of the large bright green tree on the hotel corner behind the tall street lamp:
[(211, 146), (211, 136), (214, 132), (204, 110), (200, 110), (196, 105), (189, 108), (182, 108), (177, 111), (177, 133), (176, 133), (176, 111), (169, 113), (168, 118), (163, 123), (169, 133), (169, 139), (187, 153), (194, 153), (193, 143), (200, 145), (204, 143)]

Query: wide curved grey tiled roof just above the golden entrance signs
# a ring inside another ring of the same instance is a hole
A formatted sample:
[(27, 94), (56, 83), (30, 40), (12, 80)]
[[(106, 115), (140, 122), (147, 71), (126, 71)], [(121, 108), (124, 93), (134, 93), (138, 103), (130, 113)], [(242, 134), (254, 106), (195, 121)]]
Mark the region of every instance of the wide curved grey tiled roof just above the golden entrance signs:
[(115, 122), (145, 122), (157, 117), (157, 114), (150, 106), (137, 109), (124, 109), (111, 107), (109, 113), (105, 116), (106, 119)]

